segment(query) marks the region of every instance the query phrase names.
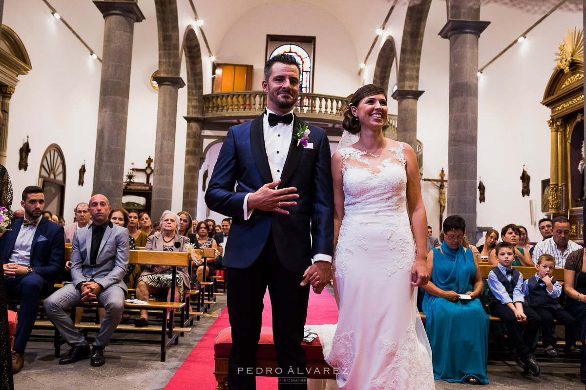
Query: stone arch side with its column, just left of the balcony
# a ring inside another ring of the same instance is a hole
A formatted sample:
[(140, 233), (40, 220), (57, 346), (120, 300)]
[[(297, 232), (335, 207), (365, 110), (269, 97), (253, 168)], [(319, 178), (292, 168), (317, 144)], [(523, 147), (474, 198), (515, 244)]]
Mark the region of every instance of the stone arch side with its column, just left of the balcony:
[[(200, 157), (202, 156), (203, 66), (202, 50), (193, 26), (183, 34), (181, 55), (187, 68), (187, 133), (185, 140), (185, 172), (183, 173), (183, 210), (197, 215)], [(203, 154), (205, 156), (205, 154)]]

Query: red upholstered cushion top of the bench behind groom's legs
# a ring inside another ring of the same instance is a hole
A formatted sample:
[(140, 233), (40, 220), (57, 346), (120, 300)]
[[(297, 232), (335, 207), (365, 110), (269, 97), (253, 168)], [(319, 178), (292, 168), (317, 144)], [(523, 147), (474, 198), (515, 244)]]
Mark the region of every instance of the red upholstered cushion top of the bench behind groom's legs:
[[(323, 361), (322, 345), (319, 339), (306, 343), (302, 341), (301, 345), (305, 350), (305, 359), (307, 361)], [(232, 346), (232, 328), (223, 329), (214, 341), (214, 356), (228, 357)], [(277, 351), (272, 340), (272, 327), (262, 327), (260, 331), (260, 340), (258, 340), (257, 358), (277, 359)]]

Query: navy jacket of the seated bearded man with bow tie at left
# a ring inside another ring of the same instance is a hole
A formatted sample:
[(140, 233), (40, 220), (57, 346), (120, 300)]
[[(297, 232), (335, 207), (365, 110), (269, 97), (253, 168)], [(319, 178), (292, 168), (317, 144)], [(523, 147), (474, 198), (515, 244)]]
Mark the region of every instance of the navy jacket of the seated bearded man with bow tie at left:
[[(12, 249), (22, 227), (23, 219), (17, 219), (12, 230), (4, 233), (0, 239), (2, 251), (2, 263), (8, 263)], [(33, 242), (30, 246), (30, 267), (39, 274), (40, 277), (53, 286), (55, 279), (61, 274), (65, 255), (65, 238), (63, 227), (51, 222), (48, 219), (41, 218), (37, 225)]]

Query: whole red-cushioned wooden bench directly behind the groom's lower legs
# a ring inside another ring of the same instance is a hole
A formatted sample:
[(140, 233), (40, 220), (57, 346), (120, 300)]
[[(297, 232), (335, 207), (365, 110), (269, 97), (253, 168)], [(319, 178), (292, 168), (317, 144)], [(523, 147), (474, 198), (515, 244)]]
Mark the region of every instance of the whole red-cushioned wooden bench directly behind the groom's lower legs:
[[(228, 380), (228, 357), (232, 346), (231, 327), (220, 331), (214, 341), (214, 376), (216, 390), (226, 390)], [(305, 350), (306, 372), (308, 379), (336, 379), (337, 369), (330, 367), (323, 360), (323, 351), (319, 339), (310, 343), (303, 341), (301, 346)], [(272, 328), (262, 327), (257, 351), (257, 376), (278, 377), (277, 353), (272, 339)]]

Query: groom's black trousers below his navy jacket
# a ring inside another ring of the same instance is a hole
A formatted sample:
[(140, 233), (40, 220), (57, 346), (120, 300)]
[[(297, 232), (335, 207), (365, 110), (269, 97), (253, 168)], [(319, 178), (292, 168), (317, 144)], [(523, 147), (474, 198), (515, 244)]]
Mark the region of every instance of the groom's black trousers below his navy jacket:
[(254, 390), (263, 298), (268, 287), (272, 335), (277, 350), (280, 390), (306, 390), (303, 340), (309, 284), (302, 272), (286, 270), (278, 258), (272, 233), (257, 260), (248, 268), (226, 267), (232, 347), (228, 364), (230, 390)]

